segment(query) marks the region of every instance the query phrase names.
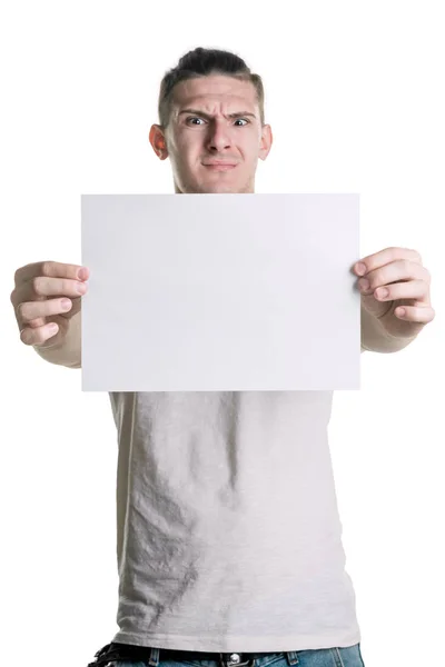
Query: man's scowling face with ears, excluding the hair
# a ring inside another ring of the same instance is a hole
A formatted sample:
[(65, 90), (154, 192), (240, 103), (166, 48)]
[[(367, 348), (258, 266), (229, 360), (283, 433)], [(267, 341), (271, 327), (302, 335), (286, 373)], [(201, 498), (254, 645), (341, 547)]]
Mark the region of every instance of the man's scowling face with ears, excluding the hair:
[(175, 191), (184, 193), (254, 192), (258, 158), (271, 141), (253, 83), (222, 74), (178, 83), (167, 130), (150, 129), (157, 156), (170, 158)]

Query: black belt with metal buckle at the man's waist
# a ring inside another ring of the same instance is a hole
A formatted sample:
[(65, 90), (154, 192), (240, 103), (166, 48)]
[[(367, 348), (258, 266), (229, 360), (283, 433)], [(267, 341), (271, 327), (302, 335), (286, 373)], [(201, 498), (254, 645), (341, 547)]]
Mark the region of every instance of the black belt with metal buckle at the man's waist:
[[(216, 660), (217, 663), (230, 663), (233, 667), (247, 665), (255, 658), (261, 658), (267, 655), (274, 655), (277, 651), (269, 653), (211, 653), (201, 650), (178, 650), (172, 648), (160, 648), (159, 660)], [(135, 646), (130, 644), (118, 644), (112, 641), (97, 651), (97, 660), (90, 663), (88, 667), (105, 667), (112, 660), (148, 661), (151, 656), (151, 648), (146, 646)]]

